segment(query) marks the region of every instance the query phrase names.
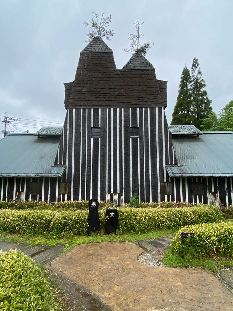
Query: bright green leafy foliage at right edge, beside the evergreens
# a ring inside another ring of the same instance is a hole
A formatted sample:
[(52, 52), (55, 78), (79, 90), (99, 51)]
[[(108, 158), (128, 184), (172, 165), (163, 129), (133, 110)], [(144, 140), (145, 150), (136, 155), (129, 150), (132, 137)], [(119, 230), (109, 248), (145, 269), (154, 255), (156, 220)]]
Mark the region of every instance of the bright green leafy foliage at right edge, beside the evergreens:
[(233, 100), (220, 110), (218, 116), (213, 112), (201, 119), (201, 127), (203, 131), (233, 131)]

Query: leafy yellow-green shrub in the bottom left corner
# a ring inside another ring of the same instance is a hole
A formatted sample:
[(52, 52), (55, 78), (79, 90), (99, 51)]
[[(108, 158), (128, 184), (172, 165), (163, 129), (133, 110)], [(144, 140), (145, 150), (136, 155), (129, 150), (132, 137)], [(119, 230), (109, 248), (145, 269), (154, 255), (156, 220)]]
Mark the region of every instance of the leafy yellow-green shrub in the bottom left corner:
[(0, 289), (0, 310), (59, 310), (45, 274), (17, 250), (0, 250)]

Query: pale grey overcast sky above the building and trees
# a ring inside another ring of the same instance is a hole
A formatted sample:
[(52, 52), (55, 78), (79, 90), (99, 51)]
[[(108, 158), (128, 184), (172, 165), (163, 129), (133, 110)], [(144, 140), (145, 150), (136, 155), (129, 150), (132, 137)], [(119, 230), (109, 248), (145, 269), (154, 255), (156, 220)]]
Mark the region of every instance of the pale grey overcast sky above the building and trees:
[[(154, 42), (146, 58), (156, 77), (168, 81), (169, 124), (181, 72), (185, 63), (191, 70), (194, 56), (217, 113), (233, 99), (232, 9), (232, 0), (1, 0), (0, 119), (7, 112), (16, 119), (41, 119), (41, 125), (63, 123), (63, 83), (74, 80), (79, 53), (87, 45), (82, 22), (89, 21), (93, 11), (112, 14), (115, 35), (105, 42), (117, 68), (131, 56), (122, 49), (129, 44), (128, 33), (135, 32), (133, 22), (144, 21), (141, 43)], [(38, 130), (20, 121), (14, 124), (21, 131)]]

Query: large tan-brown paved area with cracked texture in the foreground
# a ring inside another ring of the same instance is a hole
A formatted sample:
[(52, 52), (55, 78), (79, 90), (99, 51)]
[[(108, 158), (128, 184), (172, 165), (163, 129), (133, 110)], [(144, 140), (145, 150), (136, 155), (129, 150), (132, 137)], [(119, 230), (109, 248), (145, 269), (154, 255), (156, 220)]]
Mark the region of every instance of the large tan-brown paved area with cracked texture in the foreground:
[(164, 268), (137, 260), (133, 243), (82, 244), (50, 268), (99, 296), (114, 311), (233, 310), (233, 295), (201, 268)]

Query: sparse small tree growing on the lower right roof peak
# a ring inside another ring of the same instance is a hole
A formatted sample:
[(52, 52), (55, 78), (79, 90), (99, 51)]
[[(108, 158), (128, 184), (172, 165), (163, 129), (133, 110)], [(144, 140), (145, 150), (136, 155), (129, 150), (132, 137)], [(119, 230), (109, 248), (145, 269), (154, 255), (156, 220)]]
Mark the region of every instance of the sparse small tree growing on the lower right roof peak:
[(139, 21), (135, 21), (135, 28), (136, 28), (136, 34), (129, 34), (129, 38), (128, 40), (131, 41), (129, 47), (130, 49), (123, 49), (123, 51), (125, 52), (130, 52), (130, 53), (141, 53), (143, 55), (146, 55), (148, 49), (152, 48), (154, 43), (151, 42), (147, 42), (147, 43), (144, 43), (143, 45), (141, 45), (139, 43), (139, 39), (141, 39), (142, 37), (144, 37), (144, 34), (140, 34), (139, 33), (139, 28), (140, 28), (140, 25), (144, 24), (144, 22), (141, 22), (139, 23)]

